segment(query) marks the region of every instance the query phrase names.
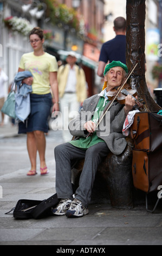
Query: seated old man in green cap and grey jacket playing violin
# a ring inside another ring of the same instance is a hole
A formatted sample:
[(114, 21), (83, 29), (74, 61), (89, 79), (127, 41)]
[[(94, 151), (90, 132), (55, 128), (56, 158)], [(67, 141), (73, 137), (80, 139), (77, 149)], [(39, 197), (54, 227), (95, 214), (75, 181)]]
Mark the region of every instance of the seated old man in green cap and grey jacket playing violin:
[[(109, 102), (109, 90), (120, 87), (127, 72), (127, 66), (120, 61), (106, 65), (102, 92), (86, 99), (79, 115), (69, 123), (70, 133), (76, 139), (55, 148), (56, 193), (60, 203), (53, 209), (54, 215), (81, 217), (88, 214), (87, 208), (99, 163), (110, 152), (119, 155), (125, 150), (127, 142), (122, 135), (122, 127), (126, 115), (135, 105), (132, 95), (126, 96), (125, 105), (115, 100), (97, 129), (96, 124)], [(92, 136), (88, 137), (89, 133)], [(73, 199), (71, 162), (84, 158), (79, 187)]]

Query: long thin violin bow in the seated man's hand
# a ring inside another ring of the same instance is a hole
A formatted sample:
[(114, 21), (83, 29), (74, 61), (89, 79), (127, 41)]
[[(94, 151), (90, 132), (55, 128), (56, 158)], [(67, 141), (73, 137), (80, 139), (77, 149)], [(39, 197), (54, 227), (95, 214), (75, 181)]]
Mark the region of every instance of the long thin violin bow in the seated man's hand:
[[(99, 124), (101, 123), (103, 117), (105, 117), (106, 115), (106, 112), (108, 111), (109, 108), (111, 108), (114, 100), (116, 99), (116, 97), (118, 97), (119, 93), (121, 92), (122, 88), (124, 87), (124, 85), (126, 84), (128, 78), (132, 75), (132, 72), (134, 71), (134, 69), (136, 68), (137, 64), (139, 63), (139, 60), (136, 60), (136, 63), (132, 66), (131, 70), (128, 72), (125, 80), (122, 82), (121, 86), (120, 86), (120, 89), (118, 90), (118, 93), (116, 93), (116, 95), (114, 95), (112, 101), (110, 102), (110, 104), (107, 105), (107, 107), (105, 108), (105, 111), (103, 112), (103, 114), (101, 115), (101, 117), (99, 118), (98, 120), (98, 124), (96, 125), (96, 128), (99, 126)], [(86, 137), (86, 139), (92, 135), (92, 132), (89, 132), (88, 133), (88, 136)]]

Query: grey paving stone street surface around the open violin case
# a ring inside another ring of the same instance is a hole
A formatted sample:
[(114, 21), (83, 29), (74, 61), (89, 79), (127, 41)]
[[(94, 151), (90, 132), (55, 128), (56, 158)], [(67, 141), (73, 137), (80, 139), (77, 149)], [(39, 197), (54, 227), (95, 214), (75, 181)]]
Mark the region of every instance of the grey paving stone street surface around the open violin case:
[[(5, 212), (19, 199), (43, 200), (55, 193), (54, 147), (62, 143), (61, 131), (47, 136), (49, 174), (27, 176), (29, 160), (25, 136), (17, 127), (0, 128), (0, 245), (55, 245), (56, 249), (104, 248), (107, 245), (161, 245), (162, 210), (147, 212), (145, 205), (133, 209), (114, 209), (109, 204), (91, 204), (81, 218), (50, 216), (41, 220), (15, 220)], [(54, 251), (55, 252), (55, 251)], [(75, 254), (75, 253), (74, 253)]]

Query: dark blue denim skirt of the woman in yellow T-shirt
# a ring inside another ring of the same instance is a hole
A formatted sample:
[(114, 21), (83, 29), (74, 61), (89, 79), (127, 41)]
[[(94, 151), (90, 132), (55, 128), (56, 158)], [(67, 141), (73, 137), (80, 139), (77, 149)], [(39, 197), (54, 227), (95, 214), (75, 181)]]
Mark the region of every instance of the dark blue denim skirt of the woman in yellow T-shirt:
[(48, 132), (48, 117), (52, 105), (51, 94), (30, 94), (30, 114), (25, 122), (18, 123), (18, 134), (33, 131)]

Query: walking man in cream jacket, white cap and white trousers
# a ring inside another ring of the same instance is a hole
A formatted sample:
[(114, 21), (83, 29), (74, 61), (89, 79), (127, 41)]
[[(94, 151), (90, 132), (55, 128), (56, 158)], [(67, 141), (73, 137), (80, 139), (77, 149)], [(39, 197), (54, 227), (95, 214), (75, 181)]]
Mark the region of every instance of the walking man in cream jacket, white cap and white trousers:
[(79, 112), (83, 101), (87, 98), (85, 72), (79, 65), (76, 65), (76, 60), (76, 53), (69, 52), (66, 58), (67, 64), (60, 66), (57, 76), (64, 142), (72, 139), (65, 124), (74, 118), (73, 115)]

